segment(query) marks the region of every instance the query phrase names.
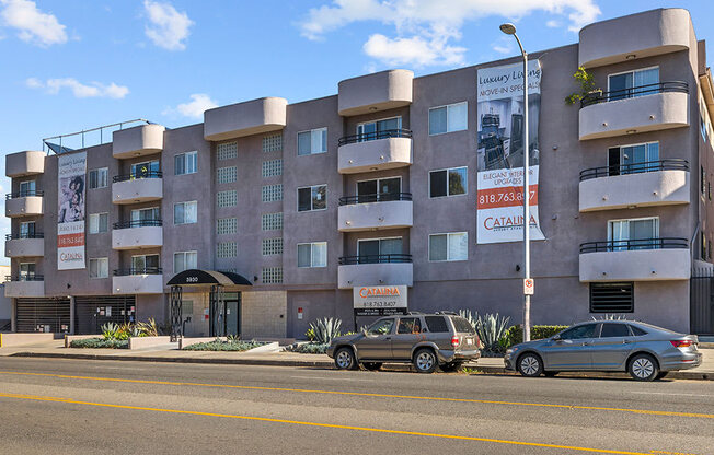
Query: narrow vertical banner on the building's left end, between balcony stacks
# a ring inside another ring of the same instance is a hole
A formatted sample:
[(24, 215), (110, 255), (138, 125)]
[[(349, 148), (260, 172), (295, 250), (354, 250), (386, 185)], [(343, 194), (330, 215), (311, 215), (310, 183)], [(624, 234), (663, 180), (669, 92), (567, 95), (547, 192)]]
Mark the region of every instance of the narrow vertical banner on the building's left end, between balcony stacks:
[(57, 269), (83, 269), (87, 152), (61, 154), (57, 165)]

